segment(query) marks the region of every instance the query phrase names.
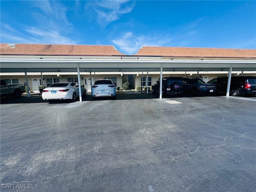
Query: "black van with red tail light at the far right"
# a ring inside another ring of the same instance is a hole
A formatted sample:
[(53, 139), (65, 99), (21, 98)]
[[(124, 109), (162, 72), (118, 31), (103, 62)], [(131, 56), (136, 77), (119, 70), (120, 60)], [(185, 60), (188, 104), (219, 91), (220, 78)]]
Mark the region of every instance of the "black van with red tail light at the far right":
[[(214, 78), (208, 83), (216, 84), (218, 93), (227, 92), (228, 77)], [(229, 94), (230, 96), (256, 94), (256, 76), (232, 76)]]

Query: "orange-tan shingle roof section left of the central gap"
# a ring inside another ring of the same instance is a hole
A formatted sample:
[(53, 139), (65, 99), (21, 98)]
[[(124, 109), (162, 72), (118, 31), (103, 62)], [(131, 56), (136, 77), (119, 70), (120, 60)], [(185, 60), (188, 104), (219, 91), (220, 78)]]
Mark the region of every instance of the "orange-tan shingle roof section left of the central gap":
[(102, 45), (51, 45), (51, 44), (0, 44), (1, 55), (69, 55), (113, 56), (121, 54), (114, 46)]

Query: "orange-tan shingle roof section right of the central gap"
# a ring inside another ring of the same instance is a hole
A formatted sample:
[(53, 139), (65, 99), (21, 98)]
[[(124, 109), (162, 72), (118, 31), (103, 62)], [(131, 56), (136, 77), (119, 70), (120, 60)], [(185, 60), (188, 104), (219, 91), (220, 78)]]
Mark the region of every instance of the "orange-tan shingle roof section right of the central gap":
[(208, 57), (208, 58), (256, 58), (256, 49), (142, 47), (138, 56)]

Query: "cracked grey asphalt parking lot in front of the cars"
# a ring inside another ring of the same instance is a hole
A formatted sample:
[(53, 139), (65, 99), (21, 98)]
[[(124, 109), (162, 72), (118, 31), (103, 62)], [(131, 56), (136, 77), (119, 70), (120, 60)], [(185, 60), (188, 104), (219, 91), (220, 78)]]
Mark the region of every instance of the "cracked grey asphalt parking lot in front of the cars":
[(255, 192), (256, 97), (1, 100), (1, 192)]

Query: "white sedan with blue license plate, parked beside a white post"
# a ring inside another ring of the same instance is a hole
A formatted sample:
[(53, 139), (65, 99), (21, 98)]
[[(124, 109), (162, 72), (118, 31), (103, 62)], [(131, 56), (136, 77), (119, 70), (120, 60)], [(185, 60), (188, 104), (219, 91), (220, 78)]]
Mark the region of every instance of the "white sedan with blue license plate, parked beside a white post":
[[(81, 87), (82, 95), (86, 95), (86, 89)], [(51, 84), (42, 91), (42, 99), (52, 102), (53, 100), (76, 100), (79, 98), (79, 85), (76, 82), (58, 82)]]

